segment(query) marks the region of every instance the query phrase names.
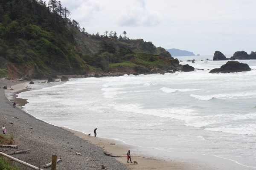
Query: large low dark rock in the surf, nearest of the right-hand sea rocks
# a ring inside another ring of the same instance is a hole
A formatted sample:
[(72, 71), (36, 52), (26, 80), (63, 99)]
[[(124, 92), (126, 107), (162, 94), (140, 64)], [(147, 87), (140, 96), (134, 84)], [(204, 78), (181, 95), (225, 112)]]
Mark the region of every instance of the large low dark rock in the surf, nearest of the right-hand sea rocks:
[(251, 68), (249, 65), (238, 61), (228, 61), (226, 64), (222, 65), (221, 68), (215, 68), (209, 73), (233, 73), (242, 71), (251, 71)]

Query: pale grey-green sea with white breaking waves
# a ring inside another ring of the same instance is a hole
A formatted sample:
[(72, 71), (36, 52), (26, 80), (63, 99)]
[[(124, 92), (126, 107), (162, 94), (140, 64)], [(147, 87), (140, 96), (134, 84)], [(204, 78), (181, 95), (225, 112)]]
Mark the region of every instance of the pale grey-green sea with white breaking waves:
[(192, 153), (256, 168), (256, 60), (238, 60), (252, 71), (210, 74), (227, 60), (177, 58), (196, 70), (38, 81), (18, 97), (49, 124), (92, 134), (98, 128), (99, 137), (161, 150), (163, 159)]

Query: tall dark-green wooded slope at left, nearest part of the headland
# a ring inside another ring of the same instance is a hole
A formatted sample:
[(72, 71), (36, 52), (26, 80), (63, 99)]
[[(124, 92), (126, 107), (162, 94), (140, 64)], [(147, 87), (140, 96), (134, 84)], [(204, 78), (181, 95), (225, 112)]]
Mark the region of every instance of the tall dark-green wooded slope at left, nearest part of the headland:
[(36, 69), (42, 74), (61, 71), (80, 73), (86, 63), (74, 49), (76, 42), (67, 29), (70, 12), (60, 1), (0, 1), (0, 69), (12, 62), (20, 75)]

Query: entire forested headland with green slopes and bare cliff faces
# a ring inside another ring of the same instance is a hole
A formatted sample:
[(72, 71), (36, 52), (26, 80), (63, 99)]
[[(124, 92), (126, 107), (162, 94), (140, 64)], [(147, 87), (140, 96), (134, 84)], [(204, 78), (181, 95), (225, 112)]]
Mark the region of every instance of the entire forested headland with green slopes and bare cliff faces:
[(0, 77), (44, 78), (49, 74), (146, 73), (179, 64), (152, 42), (114, 31), (89, 34), (60, 1), (0, 1)]

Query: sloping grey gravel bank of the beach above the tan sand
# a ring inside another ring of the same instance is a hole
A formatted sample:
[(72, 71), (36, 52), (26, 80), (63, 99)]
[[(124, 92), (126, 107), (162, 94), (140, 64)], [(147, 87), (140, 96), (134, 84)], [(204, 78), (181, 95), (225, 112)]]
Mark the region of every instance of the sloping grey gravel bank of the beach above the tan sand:
[[(49, 169), (43, 166), (51, 162), (52, 155), (57, 155), (58, 159), (62, 158), (57, 164), (59, 170), (100, 170), (102, 165), (107, 170), (130, 170), (115, 158), (106, 156), (101, 147), (61, 127), (36, 119), (18, 107), (13, 108), (12, 103), (5, 97), (3, 86), (19, 83), (22, 82), (0, 79), (1, 126), (5, 125), (6, 135), (14, 136), (13, 144), (18, 146), (18, 149), (1, 147), (1, 152), (10, 154), (18, 150), (30, 150), (12, 156), (42, 169)], [(23, 165), (15, 165), (25, 169)]]

